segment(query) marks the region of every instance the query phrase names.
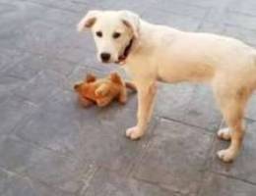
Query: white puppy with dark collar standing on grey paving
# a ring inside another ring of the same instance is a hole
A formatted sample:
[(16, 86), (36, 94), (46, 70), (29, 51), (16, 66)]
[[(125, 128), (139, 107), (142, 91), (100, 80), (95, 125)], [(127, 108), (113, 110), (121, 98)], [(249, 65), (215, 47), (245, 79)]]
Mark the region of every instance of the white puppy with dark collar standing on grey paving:
[(237, 156), (244, 108), (256, 88), (255, 49), (229, 37), (152, 25), (129, 11), (90, 11), (78, 30), (86, 27), (93, 31), (99, 61), (122, 65), (138, 87), (138, 123), (126, 130), (127, 137), (145, 133), (157, 80), (208, 82), (228, 125), (218, 135), (231, 140), (218, 156), (224, 162)]

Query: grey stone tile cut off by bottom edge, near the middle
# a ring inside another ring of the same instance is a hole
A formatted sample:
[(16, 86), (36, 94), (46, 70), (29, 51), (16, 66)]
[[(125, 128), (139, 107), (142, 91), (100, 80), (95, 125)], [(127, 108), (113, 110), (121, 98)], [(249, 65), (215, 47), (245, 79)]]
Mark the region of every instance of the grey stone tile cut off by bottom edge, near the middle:
[(80, 194), (85, 196), (178, 196), (178, 193), (167, 191), (157, 185), (139, 181), (133, 178), (123, 178), (116, 173), (100, 170), (89, 184), (89, 187)]

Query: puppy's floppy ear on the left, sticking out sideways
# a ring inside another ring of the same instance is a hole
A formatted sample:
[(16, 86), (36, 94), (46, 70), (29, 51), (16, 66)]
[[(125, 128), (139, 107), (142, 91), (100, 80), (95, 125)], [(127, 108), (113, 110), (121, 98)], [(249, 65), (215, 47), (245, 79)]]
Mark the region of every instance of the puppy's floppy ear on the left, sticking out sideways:
[(100, 14), (98, 10), (92, 10), (79, 22), (77, 29), (79, 32), (84, 31), (87, 27), (92, 27), (96, 23), (96, 18)]

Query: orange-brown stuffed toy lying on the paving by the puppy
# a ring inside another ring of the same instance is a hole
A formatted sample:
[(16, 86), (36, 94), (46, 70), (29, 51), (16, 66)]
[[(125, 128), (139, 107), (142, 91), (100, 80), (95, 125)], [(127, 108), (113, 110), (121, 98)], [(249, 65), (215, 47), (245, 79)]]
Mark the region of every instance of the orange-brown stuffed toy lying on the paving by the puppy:
[(96, 78), (94, 74), (89, 73), (85, 81), (74, 85), (79, 101), (85, 107), (93, 104), (104, 107), (114, 99), (125, 104), (127, 88), (136, 91), (136, 86), (131, 82), (123, 81), (118, 73), (110, 73), (104, 78)]

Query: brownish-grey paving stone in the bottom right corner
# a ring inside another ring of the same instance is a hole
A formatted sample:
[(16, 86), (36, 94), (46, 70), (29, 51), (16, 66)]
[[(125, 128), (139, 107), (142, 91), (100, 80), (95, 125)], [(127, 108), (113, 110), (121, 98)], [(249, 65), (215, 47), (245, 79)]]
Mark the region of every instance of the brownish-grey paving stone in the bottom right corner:
[(207, 172), (199, 196), (253, 196), (256, 186), (234, 178)]

